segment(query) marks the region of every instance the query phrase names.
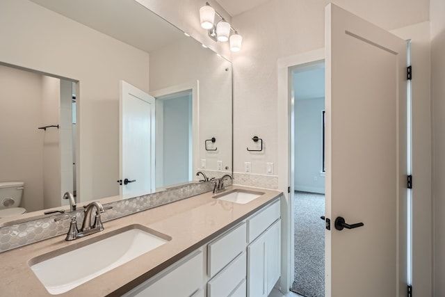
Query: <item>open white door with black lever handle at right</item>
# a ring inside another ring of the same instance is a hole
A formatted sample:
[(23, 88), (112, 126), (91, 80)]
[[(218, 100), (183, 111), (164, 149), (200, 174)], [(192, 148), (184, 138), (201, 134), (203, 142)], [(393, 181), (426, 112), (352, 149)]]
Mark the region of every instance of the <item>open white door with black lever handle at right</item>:
[(406, 43), (325, 12), (326, 296), (405, 296)]

